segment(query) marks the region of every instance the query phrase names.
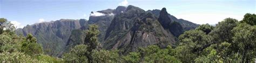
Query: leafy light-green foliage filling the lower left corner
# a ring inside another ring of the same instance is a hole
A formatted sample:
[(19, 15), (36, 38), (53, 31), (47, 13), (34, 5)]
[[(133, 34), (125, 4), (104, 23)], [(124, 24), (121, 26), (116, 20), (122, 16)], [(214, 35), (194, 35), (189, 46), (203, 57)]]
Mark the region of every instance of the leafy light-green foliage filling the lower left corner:
[(0, 21), (0, 62), (60, 62), (59, 59), (43, 55), (42, 46), (36, 43), (36, 38), (31, 34), (26, 38), (17, 36), (13, 24), (4, 18)]

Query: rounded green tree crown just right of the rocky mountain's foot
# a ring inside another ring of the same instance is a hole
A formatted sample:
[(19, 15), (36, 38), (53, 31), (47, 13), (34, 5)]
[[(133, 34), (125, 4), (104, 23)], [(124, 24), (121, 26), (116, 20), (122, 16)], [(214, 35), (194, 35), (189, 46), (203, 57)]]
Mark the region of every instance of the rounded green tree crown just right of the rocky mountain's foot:
[(189, 46), (193, 48), (193, 51), (200, 54), (200, 52), (211, 45), (210, 36), (201, 30), (190, 30), (184, 32), (179, 37), (180, 46)]

